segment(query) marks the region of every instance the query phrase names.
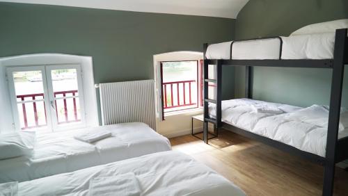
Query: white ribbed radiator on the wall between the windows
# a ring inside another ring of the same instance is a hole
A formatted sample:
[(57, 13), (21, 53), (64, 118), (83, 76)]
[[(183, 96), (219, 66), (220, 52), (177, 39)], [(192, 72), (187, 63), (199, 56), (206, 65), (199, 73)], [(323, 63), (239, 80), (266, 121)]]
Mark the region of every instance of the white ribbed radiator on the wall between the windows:
[(156, 130), (155, 81), (100, 83), (102, 124), (144, 122)]

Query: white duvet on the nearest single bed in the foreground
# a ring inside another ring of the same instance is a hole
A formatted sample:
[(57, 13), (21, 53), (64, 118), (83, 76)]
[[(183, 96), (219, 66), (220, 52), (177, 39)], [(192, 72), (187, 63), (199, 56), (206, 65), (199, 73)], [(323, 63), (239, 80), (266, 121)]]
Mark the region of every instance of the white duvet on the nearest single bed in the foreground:
[[(18, 195), (88, 195), (91, 179), (116, 178), (129, 172), (139, 182), (140, 195), (245, 195), (214, 170), (187, 155), (172, 151), (25, 181), (18, 184)], [(104, 187), (106, 193), (108, 190), (111, 190), (110, 186)]]

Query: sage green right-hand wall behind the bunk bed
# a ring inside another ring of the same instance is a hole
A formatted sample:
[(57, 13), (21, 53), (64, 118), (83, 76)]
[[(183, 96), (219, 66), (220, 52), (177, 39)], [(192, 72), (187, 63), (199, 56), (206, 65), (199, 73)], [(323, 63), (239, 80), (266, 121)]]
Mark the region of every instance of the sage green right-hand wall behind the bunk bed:
[[(239, 13), (235, 38), (290, 35), (302, 26), (348, 18), (347, 0), (252, 0)], [(329, 104), (331, 71), (255, 67), (255, 99), (298, 106)], [(348, 106), (348, 69), (345, 70), (342, 104)], [(236, 97), (244, 96), (244, 68), (235, 70)]]

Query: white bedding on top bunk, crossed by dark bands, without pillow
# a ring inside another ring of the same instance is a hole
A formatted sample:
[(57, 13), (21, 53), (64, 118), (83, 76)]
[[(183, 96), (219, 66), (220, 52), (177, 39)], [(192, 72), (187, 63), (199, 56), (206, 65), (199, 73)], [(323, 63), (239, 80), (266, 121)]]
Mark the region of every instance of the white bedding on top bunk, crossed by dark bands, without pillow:
[[(332, 59), (335, 33), (313, 33), (280, 37), (283, 40), (281, 59)], [(280, 40), (269, 38), (210, 44), (207, 59), (279, 59)]]

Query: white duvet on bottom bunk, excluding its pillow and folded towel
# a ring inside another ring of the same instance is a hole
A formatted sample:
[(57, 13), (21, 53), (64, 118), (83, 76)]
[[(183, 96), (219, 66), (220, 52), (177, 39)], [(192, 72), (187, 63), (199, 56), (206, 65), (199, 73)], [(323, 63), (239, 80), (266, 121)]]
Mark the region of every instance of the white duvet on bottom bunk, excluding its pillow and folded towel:
[[(251, 105), (268, 104), (284, 110), (283, 114), (252, 113)], [(327, 129), (314, 124), (287, 118), (299, 107), (269, 103), (253, 99), (232, 99), (221, 104), (221, 120), (246, 131), (271, 138), (305, 152), (325, 156)], [(215, 117), (214, 104), (209, 105), (209, 115)], [(338, 138), (348, 136), (348, 129), (339, 131)]]

